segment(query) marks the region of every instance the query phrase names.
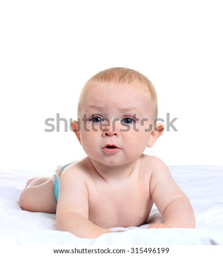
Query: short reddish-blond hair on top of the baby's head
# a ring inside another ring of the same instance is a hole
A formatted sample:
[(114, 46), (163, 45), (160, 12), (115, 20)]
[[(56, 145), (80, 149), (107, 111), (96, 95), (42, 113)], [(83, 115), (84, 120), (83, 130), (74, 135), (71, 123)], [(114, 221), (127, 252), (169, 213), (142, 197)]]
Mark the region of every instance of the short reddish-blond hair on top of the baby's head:
[(89, 87), (90, 84), (95, 83), (108, 83), (108, 82), (116, 82), (116, 83), (127, 83), (131, 84), (133, 82), (140, 82), (144, 84), (148, 92), (150, 94), (150, 101), (151, 101), (151, 108), (153, 111), (154, 119), (157, 118), (158, 115), (158, 103), (157, 103), (157, 93), (156, 89), (154, 88), (153, 84), (150, 80), (143, 74), (133, 69), (128, 68), (110, 68), (103, 71), (98, 72), (96, 75), (92, 76), (84, 85), (82, 92), (80, 93), (79, 102), (78, 102), (78, 109), (77, 114), (79, 116), (80, 107), (82, 104), (83, 95), (86, 89)]

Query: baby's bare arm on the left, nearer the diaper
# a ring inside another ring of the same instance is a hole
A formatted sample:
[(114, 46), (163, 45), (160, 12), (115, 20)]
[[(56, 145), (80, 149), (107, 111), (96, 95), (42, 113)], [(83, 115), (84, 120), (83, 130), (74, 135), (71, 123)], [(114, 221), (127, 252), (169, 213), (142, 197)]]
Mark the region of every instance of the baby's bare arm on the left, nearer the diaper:
[(75, 175), (67, 169), (60, 181), (57, 205), (57, 228), (84, 238), (95, 238), (109, 233), (88, 220), (88, 191), (83, 175)]

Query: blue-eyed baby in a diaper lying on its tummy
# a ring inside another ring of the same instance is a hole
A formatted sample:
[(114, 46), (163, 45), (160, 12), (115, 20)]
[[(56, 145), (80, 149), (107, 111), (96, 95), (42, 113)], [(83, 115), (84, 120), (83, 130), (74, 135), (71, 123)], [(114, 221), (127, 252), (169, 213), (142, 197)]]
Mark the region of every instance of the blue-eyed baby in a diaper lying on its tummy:
[(112, 227), (148, 222), (153, 203), (163, 223), (149, 228), (194, 228), (189, 199), (160, 159), (143, 154), (162, 135), (157, 95), (137, 71), (111, 68), (86, 82), (72, 128), (86, 157), (27, 182), (23, 210), (55, 213), (58, 230), (94, 238)]

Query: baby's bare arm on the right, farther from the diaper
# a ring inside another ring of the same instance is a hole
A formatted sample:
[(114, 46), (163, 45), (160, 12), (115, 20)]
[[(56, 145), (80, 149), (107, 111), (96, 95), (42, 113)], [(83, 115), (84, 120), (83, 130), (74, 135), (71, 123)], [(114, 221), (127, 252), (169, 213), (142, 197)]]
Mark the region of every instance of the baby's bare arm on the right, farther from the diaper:
[(149, 228), (194, 228), (195, 217), (189, 199), (171, 176), (168, 167), (157, 160), (150, 183), (153, 202), (164, 223), (151, 224)]

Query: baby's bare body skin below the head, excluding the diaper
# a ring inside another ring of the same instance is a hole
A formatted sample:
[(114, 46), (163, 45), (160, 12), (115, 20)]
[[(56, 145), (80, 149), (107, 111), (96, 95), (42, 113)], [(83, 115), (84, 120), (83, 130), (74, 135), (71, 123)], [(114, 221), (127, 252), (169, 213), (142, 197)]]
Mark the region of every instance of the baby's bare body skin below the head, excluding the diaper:
[[(188, 198), (172, 179), (168, 167), (153, 156), (142, 155), (126, 175), (112, 179), (111, 175), (98, 173), (89, 157), (72, 164), (62, 175), (58, 205), (51, 178), (36, 178), (29, 182), (21, 195), (21, 202), (23, 196), (27, 197), (26, 193), (33, 204), (29, 201), (28, 209), (21, 204), (24, 210), (50, 213), (57, 210), (59, 229), (79, 237), (97, 237), (109, 233), (108, 229), (112, 227), (145, 224), (153, 201), (164, 216), (164, 223), (153, 223), (149, 228), (194, 227)], [(170, 197), (171, 194), (175, 195), (174, 198)], [(177, 205), (179, 211), (170, 207), (171, 204)], [(66, 225), (61, 220), (65, 216), (70, 220)], [(73, 222), (75, 218), (78, 221)], [(78, 230), (80, 223), (86, 225), (86, 229)]]

